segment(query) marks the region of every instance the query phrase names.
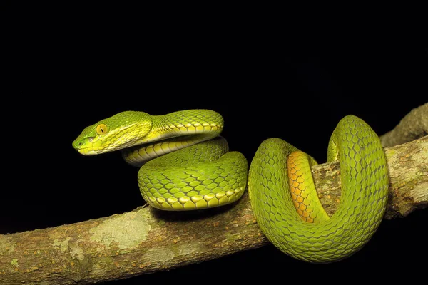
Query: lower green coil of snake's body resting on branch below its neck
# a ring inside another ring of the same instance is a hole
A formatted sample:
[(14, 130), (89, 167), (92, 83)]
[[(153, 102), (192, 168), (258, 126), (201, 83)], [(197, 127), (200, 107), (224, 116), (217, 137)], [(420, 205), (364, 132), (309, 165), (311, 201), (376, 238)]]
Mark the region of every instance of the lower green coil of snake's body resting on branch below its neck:
[(152, 207), (167, 210), (235, 202), (247, 184), (248, 162), (240, 152), (227, 151), (218, 137), (151, 160), (138, 172), (141, 194)]

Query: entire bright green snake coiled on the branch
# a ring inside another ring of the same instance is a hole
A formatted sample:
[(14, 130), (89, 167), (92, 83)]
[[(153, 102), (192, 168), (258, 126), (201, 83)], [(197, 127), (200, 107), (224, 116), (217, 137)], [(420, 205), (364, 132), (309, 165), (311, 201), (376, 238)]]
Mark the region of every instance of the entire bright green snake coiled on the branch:
[(230, 204), (248, 186), (255, 218), (278, 249), (296, 259), (331, 262), (361, 249), (387, 204), (387, 162), (376, 133), (348, 115), (332, 133), (327, 160), (340, 160), (342, 196), (327, 215), (310, 167), (317, 162), (279, 138), (258, 147), (248, 171), (240, 152), (219, 136), (223, 118), (213, 110), (167, 115), (126, 111), (85, 128), (73, 142), (83, 155), (122, 150), (140, 167), (138, 185), (152, 207), (191, 210)]

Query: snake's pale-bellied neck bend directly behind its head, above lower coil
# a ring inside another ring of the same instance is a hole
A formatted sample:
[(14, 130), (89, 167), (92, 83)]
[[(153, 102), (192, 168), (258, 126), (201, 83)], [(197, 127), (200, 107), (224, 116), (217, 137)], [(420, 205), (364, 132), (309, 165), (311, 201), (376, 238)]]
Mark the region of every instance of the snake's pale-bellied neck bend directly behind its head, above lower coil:
[(123, 159), (141, 167), (149, 160), (210, 140), (223, 130), (223, 117), (212, 110), (183, 110), (153, 115), (151, 132), (135, 147), (123, 150)]

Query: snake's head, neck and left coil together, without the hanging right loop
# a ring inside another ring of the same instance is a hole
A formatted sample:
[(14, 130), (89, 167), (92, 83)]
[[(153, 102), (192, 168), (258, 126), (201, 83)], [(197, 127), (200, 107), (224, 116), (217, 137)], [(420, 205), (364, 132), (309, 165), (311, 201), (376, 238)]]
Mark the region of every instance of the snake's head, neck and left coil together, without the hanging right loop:
[(126, 162), (141, 167), (138, 185), (152, 207), (204, 209), (235, 202), (247, 185), (248, 162), (228, 151), (222, 130), (213, 110), (126, 111), (83, 130), (73, 147), (83, 155), (122, 150)]

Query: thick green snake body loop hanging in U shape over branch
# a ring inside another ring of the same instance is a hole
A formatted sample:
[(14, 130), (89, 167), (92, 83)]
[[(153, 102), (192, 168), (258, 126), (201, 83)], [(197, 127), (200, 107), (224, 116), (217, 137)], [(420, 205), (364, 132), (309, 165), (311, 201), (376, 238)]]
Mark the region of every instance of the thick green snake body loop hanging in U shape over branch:
[[(379, 138), (360, 118), (340, 120), (327, 160), (340, 160), (342, 196), (332, 217), (317, 222), (302, 219), (290, 194), (287, 159), (297, 151), (279, 138), (258, 147), (248, 175), (257, 222), (275, 247), (296, 259), (321, 263), (349, 257), (369, 241), (386, 209), (389, 182)], [(311, 204), (322, 207), (319, 201)]]

